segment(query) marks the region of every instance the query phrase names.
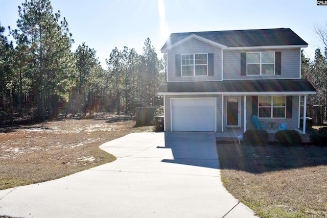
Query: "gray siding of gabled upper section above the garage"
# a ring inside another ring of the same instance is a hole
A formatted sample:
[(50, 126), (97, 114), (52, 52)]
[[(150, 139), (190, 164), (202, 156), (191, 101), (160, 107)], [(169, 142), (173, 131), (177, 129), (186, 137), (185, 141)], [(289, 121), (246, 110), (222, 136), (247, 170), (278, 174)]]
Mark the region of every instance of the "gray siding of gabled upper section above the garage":
[[(176, 54), (214, 54), (214, 76), (176, 77), (175, 55)], [(168, 81), (217, 81), (221, 78), (221, 49), (214, 45), (191, 39), (174, 47), (167, 53)]]

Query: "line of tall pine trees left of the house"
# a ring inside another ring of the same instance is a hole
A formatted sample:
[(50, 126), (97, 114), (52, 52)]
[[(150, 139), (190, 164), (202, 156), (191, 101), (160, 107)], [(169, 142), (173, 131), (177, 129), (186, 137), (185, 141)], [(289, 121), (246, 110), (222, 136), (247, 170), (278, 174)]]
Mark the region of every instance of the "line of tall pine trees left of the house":
[(157, 106), (157, 87), (165, 80), (165, 58), (157, 57), (147, 38), (143, 53), (115, 47), (104, 69), (85, 43), (71, 52), (68, 22), (49, 0), (18, 6), (14, 39), (0, 23), (0, 120), (32, 116), (40, 120), (62, 113), (129, 113)]

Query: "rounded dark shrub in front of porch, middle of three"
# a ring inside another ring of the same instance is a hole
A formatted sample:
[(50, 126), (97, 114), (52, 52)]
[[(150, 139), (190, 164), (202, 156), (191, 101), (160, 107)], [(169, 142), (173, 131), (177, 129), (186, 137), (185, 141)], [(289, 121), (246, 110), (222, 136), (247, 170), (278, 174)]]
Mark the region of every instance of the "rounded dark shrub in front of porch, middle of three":
[(297, 146), (302, 143), (302, 137), (296, 130), (281, 130), (275, 133), (275, 138), (283, 146)]

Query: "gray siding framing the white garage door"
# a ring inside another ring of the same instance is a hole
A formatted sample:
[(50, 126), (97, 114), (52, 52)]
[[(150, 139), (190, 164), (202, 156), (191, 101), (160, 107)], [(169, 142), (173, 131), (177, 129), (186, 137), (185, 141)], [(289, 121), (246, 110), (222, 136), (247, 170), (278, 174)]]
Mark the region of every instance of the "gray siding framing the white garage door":
[(171, 132), (171, 98), (217, 98), (217, 132), (221, 132), (221, 95), (166, 95), (165, 96), (165, 131)]

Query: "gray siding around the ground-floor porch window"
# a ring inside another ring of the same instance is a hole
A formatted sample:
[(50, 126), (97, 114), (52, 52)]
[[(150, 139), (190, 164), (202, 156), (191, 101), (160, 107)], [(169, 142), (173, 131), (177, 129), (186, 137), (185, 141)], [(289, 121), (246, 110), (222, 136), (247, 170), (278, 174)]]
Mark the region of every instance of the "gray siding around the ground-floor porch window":
[[(252, 96), (247, 96), (246, 98), (246, 105), (247, 105), (246, 119), (249, 120), (249, 123), (247, 123), (246, 125), (246, 129), (255, 128), (251, 119), (251, 116), (253, 115), (251, 97)], [(259, 120), (264, 121), (266, 123), (266, 128), (270, 128), (270, 124), (268, 124), (268, 122), (275, 122), (276, 123), (274, 125), (275, 130), (278, 130), (278, 126), (281, 126), (282, 123), (287, 125), (287, 129), (297, 129), (298, 128), (298, 98), (299, 96), (292, 97), (292, 118), (259, 118)]]

